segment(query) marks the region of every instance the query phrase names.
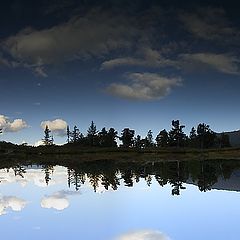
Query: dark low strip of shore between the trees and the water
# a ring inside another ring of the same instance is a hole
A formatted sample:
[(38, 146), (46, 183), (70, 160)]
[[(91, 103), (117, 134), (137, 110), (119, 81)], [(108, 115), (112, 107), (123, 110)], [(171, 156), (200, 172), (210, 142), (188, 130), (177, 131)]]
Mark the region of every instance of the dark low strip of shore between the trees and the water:
[(43, 162), (64, 164), (71, 162), (88, 162), (115, 160), (118, 162), (162, 162), (188, 160), (240, 160), (240, 148), (225, 149), (123, 149), (123, 148), (64, 148), (38, 147), (1, 149), (1, 163)]

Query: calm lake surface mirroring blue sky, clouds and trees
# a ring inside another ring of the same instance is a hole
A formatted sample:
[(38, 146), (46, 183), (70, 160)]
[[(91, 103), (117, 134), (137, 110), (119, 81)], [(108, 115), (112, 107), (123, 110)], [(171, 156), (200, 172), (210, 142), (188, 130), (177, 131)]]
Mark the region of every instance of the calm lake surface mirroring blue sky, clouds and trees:
[(239, 239), (240, 162), (1, 167), (3, 239)]

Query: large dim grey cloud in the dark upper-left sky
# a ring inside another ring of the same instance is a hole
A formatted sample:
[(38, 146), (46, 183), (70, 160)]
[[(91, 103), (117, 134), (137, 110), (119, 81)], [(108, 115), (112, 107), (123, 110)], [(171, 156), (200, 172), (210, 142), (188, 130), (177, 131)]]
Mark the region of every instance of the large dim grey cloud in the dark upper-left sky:
[(16, 62), (46, 77), (43, 66), (47, 64), (100, 57), (114, 49), (128, 48), (139, 34), (128, 21), (131, 19), (93, 9), (47, 29), (23, 29), (1, 45)]

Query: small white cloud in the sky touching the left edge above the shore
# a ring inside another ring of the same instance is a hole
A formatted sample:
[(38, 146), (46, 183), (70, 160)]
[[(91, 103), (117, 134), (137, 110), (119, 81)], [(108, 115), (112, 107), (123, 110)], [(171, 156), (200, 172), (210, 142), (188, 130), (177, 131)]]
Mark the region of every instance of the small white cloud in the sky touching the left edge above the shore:
[(11, 121), (7, 116), (0, 115), (0, 129), (3, 132), (18, 132), (28, 125), (23, 119), (14, 119)]

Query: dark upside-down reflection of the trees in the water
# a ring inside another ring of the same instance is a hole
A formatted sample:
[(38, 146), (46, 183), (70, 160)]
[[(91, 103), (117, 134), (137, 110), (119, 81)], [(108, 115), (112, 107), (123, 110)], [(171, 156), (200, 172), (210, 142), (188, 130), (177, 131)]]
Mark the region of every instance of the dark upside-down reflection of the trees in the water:
[[(88, 181), (96, 192), (98, 188), (117, 190), (120, 184), (133, 187), (141, 179), (151, 186), (153, 179), (164, 187), (172, 187), (172, 195), (180, 195), (185, 183), (193, 183), (200, 191), (206, 192), (218, 182), (219, 177), (229, 179), (233, 171), (240, 169), (238, 161), (171, 161), (171, 162), (120, 162), (96, 161), (69, 164), (67, 167), (68, 186), (78, 191)], [(24, 177), (26, 168), (17, 165), (12, 168), (15, 176)], [(51, 181), (53, 165), (42, 165), (45, 182)]]

